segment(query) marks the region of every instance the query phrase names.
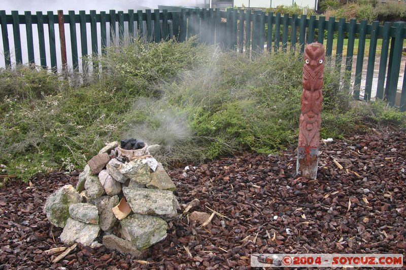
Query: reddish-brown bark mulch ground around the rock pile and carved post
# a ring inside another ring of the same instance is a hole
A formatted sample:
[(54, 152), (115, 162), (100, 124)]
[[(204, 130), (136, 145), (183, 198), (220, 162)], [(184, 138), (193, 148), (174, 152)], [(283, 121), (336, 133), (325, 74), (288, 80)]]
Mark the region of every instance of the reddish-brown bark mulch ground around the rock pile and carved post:
[(406, 134), (358, 135), (322, 144), (321, 151), (313, 181), (292, 177), (294, 149), (171, 171), (179, 213), (197, 198), (189, 213), (213, 209), (225, 217), (200, 227), (182, 216), (139, 260), (78, 245), (52, 263), (59, 253), (44, 251), (63, 246), (62, 229), (42, 209), (55, 189), (76, 184), (78, 172), (39, 176), (31, 187), (10, 181), (0, 189), (0, 269), (245, 269), (254, 252), (406, 255)]

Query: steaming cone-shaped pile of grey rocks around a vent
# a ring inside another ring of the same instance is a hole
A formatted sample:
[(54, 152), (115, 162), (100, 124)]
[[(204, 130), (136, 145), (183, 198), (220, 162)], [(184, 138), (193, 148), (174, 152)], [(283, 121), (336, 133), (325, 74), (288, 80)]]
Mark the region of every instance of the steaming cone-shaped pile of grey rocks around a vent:
[(76, 188), (64, 185), (46, 201), (44, 212), (62, 227), (60, 240), (139, 256), (166, 237), (167, 220), (177, 216), (175, 185), (152, 155), (159, 145), (134, 139), (108, 143), (91, 158)]

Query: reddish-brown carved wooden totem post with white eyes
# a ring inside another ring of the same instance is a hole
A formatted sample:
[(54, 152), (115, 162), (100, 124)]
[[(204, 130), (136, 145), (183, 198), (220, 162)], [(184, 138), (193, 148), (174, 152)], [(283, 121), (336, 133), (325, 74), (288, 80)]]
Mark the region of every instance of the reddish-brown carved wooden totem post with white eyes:
[(296, 173), (308, 179), (317, 177), (324, 59), (325, 50), (322, 44), (312, 43), (306, 46), (303, 59), (303, 90), (300, 100)]

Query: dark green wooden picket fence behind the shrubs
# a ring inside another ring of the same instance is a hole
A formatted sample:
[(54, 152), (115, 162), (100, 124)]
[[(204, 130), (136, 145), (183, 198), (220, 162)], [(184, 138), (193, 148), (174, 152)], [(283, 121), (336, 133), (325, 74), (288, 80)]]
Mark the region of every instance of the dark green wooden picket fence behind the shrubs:
[[(58, 16), (60, 15), (60, 16)], [(110, 27), (107, 27), (110, 25)], [(73, 68), (79, 68), (78, 48), (80, 43), (81, 55), (89, 53), (104, 53), (103, 48), (114, 40), (122, 41), (126, 36), (144, 35), (151, 42), (160, 42), (168, 38), (176, 38), (182, 42), (188, 37), (198, 35), (199, 41), (208, 44), (219, 44), (224, 48), (237, 50), (242, 53), (258, 55), (261, 53), (273, 53), (279, 50), (300, 50), (303, 52), (304, 45), (312, 42), (324, 43), (326, 55), (332, 55), (333, 44), (335, 43), (335, 65), (338, 70), (342, 69), (344, 41), (347, 39), (347, 51), (343, 76), (343, 84), (350, 87), (350, 77), (353, 66), (353, 57), (356, 56), (355, 76), (354, 76), (354, 98), (360, 98), (361, 76), (363, 71), (365, 42), (369, 40), (369, 53), (365, 76), (365, 89), (363, 99), (369, 100), (372, 93), (375, 59), (377, 53), (380, 54), (378, 83), (376, 95), (372, 98), (386, 99), (390, 105), (394, 105), (399, 98), (397, 93), (397, 82), (401, 64), (403, 39), (406, 37), (404, 22), (386, 22), (380, 25), (379, 22), (367, 24), (366, 21), (357, 23), (355, 19), (346, 22), (341, 18), (335, 20), (334, 17), (325, 19), (320, 16), (305, 15), (300, 17), (280, 13), (265, 14), (263, 11), (233, 10), (220, 11), (218, 9), (182, 9), (178, 12), (167, 12), (163, 10), (133, 11), (127, 13), (122, 11), (100, 12), (80, 11), (79, 14), (70, 11), (63, 15), (61, 12), (54, 14), (52, 11), (43, 14), (37, 12), (31, 14), (25, 12), (18, 14), (12, 11), (6, 14), (0, 11), (0, 24), (3, 39), (3, 50), (5, 64), (7, 66), (15, 63), (33, 63), (38, 59), (33, 49), (36, 40), (39, 44), (39, 64), (44, 67), (50, 66), (57, 70), (57, 57), (55, 45), (55, 24), (59, 24), (59, 38), (61, 44), (61, 55), (66, 51), (64, 42), (64, 31), (70, 31), (71, 40), (67, 41), (71, 46), (71, 59)], [(22, 55), (20, 24), (25, 25), (27, 55)], [(37, 25), (38, 38), (33, 38), (32, 27)], [(44, 32), (44, 24), (48, 25), (48, 33)], [(67, 24), (66, 28), (61, 25)], [(76, 25), (80, 25), (77, 33)], [(90, 24), (90, 40), (86, 25)], [(15, 62), (11, 62), (10, 43), (8, 25), (12, 26)], [(62, 29), (62, 30), (61, 30)], [(98, 31), (100, 36), (98, 36)], [(127, 29), (126, 31), (124, 29)], [(49, 44), (45, 44), (45, 35), (49, 36)], [(326, 35), (326, 36), (325, 36)], [(381, 51), (377, 52), (377, 41), (382, 39)], [(98, 48), (98, 41), (101, 41), (101, 48)], [(358, 51), (354, 52), (354, 43), (358, 40)], [(91, 43), (91, 52), (87, 50), (87, 43)], [(50, 54), (50, 63), (46, 60), (46, 51)], [(36, 58), (37, 57), (37, 58)], [(66, 62), (62, 63), (66, 65)], [(400, 107), (405, 109), (406, 101), (406, 74), (403, 74), (403, 86), (400, 93)]]

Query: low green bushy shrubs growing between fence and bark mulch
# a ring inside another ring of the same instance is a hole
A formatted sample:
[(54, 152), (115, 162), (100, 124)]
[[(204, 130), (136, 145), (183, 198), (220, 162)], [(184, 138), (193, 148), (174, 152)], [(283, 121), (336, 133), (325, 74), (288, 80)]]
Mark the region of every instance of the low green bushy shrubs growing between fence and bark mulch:
[[(81, 168), (105, 142), (127, 136), (161, 144), (158, 159), (168, 165), (246, 150), (272, 153), (297, 143), (298, 52), (250, 60), (193, 38), (137, 40), (109, 48), (98, 61), (103, 68), (83, 86), (28, 67), (0, 71), (0, 82), (7, 82), (0, 84), (3, 174), (26, 180)], [(404, 124), (405, 114), (383, 102), (353, 109), (332, 62), (326, 60), (323, 138), (365, 125)]]

